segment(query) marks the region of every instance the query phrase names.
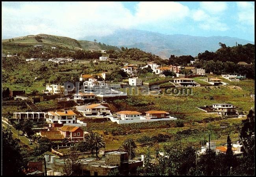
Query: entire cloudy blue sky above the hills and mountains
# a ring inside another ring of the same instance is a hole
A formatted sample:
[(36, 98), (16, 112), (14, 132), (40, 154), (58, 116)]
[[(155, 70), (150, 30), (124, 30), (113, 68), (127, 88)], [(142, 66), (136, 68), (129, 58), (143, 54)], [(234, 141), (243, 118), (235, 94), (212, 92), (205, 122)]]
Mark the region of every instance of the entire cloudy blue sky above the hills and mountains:
[(86, 39), (117, 29), (254, 42), (254, 2), (2, 2), (2, 38)]

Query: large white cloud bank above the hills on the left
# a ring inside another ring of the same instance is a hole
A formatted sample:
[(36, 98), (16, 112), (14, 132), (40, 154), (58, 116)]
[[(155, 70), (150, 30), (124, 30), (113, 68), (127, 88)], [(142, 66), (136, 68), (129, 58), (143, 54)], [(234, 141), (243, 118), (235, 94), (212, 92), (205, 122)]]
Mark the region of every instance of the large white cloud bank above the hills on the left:
[(2, 34), (79, 39), (150, 23), (171, 25), (188, 15), (189, 8), (178, 2), (139, 2), (135, 15), (121, 2), (2, 2)]

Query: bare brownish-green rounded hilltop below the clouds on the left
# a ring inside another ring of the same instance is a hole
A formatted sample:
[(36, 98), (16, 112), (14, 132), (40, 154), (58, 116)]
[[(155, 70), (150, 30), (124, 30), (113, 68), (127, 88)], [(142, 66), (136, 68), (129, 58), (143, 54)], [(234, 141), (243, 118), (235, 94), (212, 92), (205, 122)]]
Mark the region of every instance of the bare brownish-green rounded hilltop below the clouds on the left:
[[(32, 47), (34, 45), (43, 45), (45, 47), (57, 46), (59, 49), (87, 49), (87, 50), (103, 50), (106, 47), (96, 42), (87, 40), (76, 40), (69, 37), (54, 35), (28, 35), (12, 39), (2, 40), (3, 53), (15, 52), (15, 50)], [(111, 46), (112, 48), (118, 49)]]

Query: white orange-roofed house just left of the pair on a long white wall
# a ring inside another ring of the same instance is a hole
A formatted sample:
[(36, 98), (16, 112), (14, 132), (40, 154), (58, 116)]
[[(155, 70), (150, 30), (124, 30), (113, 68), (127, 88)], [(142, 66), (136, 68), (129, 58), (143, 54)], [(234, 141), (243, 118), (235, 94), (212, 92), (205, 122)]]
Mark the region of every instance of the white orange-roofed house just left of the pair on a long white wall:
[(102, 104), (89, 104), (84, 106), (83, 115), (85, 117), (103, 117), (111, 115), (108, 107), (103, 106)]

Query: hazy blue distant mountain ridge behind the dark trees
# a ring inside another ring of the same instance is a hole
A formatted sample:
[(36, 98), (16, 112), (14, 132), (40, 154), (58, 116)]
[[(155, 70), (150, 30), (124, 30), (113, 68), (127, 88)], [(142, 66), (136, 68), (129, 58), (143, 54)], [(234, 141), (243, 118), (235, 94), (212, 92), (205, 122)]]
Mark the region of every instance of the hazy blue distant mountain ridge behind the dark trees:
[(189, 36), (189, 35), (163, 35), (150, 31), (137, 29), (120, 29), (107, 36), (86, 36), (86, 40), (96, 39), (98, 42), (111, 44), (118, 47), (139, 48), (146, 52), (169, 58), (170, 55), (197, 56), (206, 50), (215, 52), (219, 49), (219, 42), (226, 46), (237, 44), (254, 44), (254, 42), (229, 36)]

